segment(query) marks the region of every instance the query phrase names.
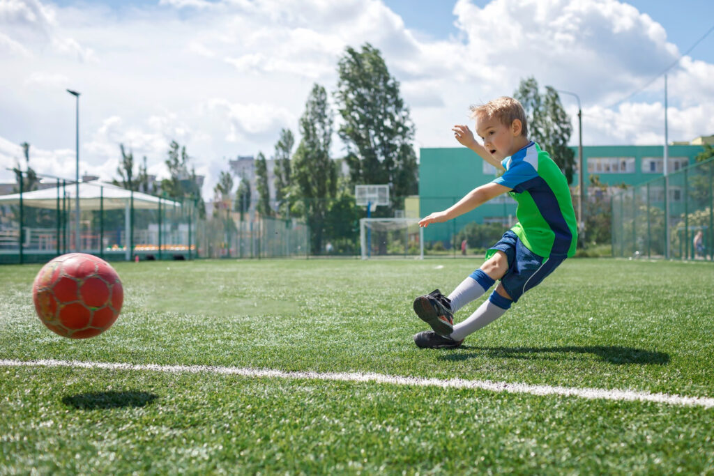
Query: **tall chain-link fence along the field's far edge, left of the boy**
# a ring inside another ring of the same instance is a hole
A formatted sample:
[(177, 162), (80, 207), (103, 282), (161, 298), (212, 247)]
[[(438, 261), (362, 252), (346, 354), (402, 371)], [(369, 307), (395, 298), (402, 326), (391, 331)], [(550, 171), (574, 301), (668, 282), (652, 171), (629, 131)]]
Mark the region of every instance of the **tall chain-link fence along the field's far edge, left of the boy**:
[[(80, 184), (77, 221), (76, 183), (43, 181), (39, 187), (25, 191), (18, 183), (14, 193), (0, 195), (0, 263), (44, 263), (75, 251), (106, 260), (473, 257), (515, 223), (515, 203), (495, 203), (488, 223), (463, 216), (430, 226), (422, 236), (414, 219), (448, 208), (458, 197), (393, 198), (391, 206), (373, 211), (357, 206), (348, 193), (269, 203), (216, 201), (203, 208), (193, 200), (99, 182)], [(368, 217), (395, 219), (396, 228), (368, 230), (361, 241), (360, 220)]]

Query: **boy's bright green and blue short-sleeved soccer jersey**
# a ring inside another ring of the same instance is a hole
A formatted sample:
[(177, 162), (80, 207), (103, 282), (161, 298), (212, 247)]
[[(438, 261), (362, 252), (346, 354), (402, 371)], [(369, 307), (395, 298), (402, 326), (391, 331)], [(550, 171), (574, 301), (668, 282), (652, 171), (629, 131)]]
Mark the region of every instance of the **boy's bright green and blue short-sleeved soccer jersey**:
[(568, 181), (548, 152), (531, 141), (501, 163), (506, 171), (493, 182), (511, 188), (518, 202), (513, 233), (536, 255), (574, 255), (578, 228)]

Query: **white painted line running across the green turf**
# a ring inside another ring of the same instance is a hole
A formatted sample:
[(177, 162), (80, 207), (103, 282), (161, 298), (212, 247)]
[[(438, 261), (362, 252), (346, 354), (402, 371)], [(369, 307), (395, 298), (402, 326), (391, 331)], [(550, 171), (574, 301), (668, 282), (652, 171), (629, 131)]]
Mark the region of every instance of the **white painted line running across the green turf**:
[(580, 397), (591, 400), (628, 400), (656, 402), (668, 405), (714, 407), (714, 398), (686, 397), (666, 393), (649, 393), (635, 390), (607, 390), (604, 388), (570, 388), (552, 385), (528, 385), (526, 383), (491, 382), (489, 380), (463, 380), (453, 378), (401, 377), (378, 373), (318, 373), (285, 372), (283, 370), (260, 370), (239, 367), (217, 367), (213, 365), (156, 365), (130, 363), (79, 362), (77, 360), (0, 360), (0, 367), (71, 367), (107, 370), (150, 370), (165, 373), (215, 373), (220, 375), (240, 375), (241, 377), (286, 378), (296, 380), (334, 380), (342, 382), (374, 382), (388, 385), (408, 385), (417, 387), (473, 388), (491, 392), (528, 393), (530, 395), (558, 395)]

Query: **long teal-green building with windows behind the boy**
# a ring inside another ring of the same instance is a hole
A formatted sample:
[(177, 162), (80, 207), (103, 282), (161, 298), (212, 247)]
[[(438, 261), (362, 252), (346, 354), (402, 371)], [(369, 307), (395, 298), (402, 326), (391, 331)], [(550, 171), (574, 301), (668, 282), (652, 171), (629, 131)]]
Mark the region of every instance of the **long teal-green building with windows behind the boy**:
[[(574, 147), (576, 168), (573, 195), (578, 185), (578, 148)], [(675, 144), (668, 148), (668, 172), (673, 173), (695, 162), (701, 145)], [(588, 199), (590, 176), (597, 175), (600, 182), (619, 190), (618, 185), (635, 185), (650, 181), (663, 174), (663, 146), (584, 146), (585, 200)], [(433, 211), (443, 210), (459, 201), (477, 186), (492, 181), (496, 170), (483, 161), (473, 151), (465, 148), (422, 148), (419, 162), (419, 211), (427, 216)], [(654, 196), (657, 196), (655, 191)], [(664, 191), (661, 191), (663, 199)], [(676, 186), (671, 186), (670, 200), (681, 200), (682, 194)], [(663, 200), (662, 200), (663, 201)], [(577, 211), (577, 203), (573, 203)], [(484, 203), (465, 215), (448, 223), (437, 223), (424, 231), (424, 240), (451, 242), (451, 237), (467, 223), (503, 223), (511, 225), (516, 221), (516, 201), (504, 194)]]

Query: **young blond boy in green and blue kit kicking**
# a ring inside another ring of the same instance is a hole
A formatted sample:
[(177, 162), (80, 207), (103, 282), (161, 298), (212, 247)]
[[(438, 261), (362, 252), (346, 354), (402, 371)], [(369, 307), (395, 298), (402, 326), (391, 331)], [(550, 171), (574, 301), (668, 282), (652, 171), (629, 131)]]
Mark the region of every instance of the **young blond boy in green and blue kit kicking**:
[[(433, 329), (414, 336), (420, 348), (461, 345), (467, 335), (500, 318), (523, 293), (575, 254), (578, 241), (568, 183), (548, 153), (528, 140), (521, 103), (504, 96), (471, 106), (471, 118), (476, 119), (476, 133), (483, 146), (468, 126), (454, 126), (454, 136), (495, 166), (500, 176), (474, 188), (445, 211), (422, 218), (419, 226), (451, 220), (506, 192), (518, 202), (518, 223), (486, 252), (481, 268), (448, 297), (437, 289), (414, 300), (414, 311)], [(453, 325), (453, 313), (486, 293), (496, 280), (501, 283), (488, 300), (466, 320)]]

